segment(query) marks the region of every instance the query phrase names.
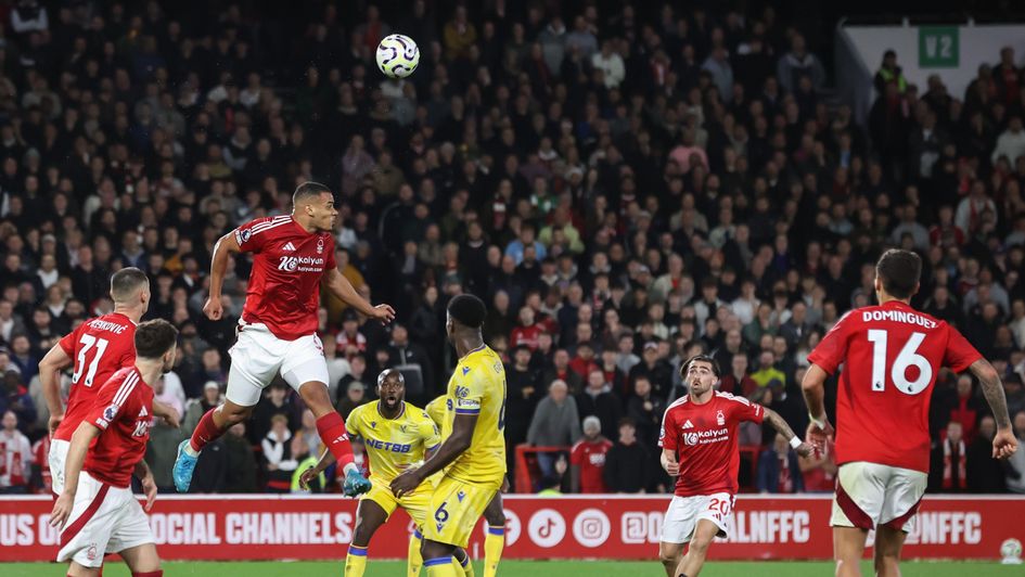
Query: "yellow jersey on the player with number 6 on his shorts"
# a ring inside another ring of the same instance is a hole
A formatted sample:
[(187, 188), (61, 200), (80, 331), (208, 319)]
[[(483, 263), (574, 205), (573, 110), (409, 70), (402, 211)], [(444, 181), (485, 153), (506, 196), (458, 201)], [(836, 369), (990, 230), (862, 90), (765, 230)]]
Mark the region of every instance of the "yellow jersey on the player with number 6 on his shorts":
[(476, 485), (501, 486), (505, 477), (505, 368), (487, 345), (460, 359), (448, 382), (443, 435), (452, 431), (457, 414), (476, 414), (466, 449), (449, 465), (446, 476)]

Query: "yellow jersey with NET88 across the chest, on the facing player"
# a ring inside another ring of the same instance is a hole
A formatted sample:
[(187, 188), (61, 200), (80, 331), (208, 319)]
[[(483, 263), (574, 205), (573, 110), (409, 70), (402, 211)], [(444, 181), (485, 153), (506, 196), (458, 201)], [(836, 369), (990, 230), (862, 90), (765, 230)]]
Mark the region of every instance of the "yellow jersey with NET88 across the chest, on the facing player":
[(395, 419), (377, 410), (380, 400), (361, 405), (349, 413), (345, 427), (359, 435), (370, 458), (370, 480), (388, 484), (410, 465), (423, 461), (424, 451), (441, 443), (438, 427), (427, 413), (408, 402)]

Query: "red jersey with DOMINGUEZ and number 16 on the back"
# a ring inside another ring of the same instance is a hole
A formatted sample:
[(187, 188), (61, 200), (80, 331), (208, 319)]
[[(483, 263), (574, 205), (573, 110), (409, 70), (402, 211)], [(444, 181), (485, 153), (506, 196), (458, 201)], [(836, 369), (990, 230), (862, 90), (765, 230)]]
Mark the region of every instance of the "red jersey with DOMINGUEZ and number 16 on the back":
[(891, 300), (844, 316), (808, 361), (832, 374), (836, 463), (868, 461), (928, 473), (928, 403), (940, 367), (982, 358), (957, 329)]

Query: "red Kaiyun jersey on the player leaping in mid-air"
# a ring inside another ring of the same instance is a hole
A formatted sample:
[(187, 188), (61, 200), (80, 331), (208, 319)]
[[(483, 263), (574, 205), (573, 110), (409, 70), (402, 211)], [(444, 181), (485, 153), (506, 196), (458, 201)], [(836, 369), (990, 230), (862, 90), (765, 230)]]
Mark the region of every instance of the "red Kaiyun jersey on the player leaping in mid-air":
[(291, 216), (278, 216), (239, 227), (235, 240), (254, 254), (242, 320), (261, 322), (284, 341), (316, 333), (320, 280), (337, 267), (331, 234), (307, 232)]

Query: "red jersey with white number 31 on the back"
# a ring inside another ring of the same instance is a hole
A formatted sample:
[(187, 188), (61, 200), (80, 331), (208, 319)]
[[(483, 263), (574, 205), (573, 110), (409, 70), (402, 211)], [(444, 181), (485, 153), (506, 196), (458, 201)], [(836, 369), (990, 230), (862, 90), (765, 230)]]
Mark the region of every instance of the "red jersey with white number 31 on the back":
[(65, 335), (61, 348), (75, 364), (64, 420), (53, 438), (71, 440), (100, 386), (115, 371), (136, 362), (136, 323), (120, 312), (97, 317)]

